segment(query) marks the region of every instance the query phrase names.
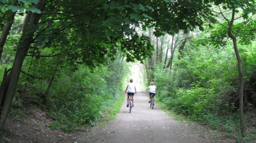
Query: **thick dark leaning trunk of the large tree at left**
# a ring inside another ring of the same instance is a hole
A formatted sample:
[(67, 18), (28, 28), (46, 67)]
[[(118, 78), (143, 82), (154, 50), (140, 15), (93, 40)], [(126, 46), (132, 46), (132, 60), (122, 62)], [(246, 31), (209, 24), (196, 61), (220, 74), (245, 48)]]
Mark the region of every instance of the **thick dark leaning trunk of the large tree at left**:
[[(46, 0), (41, 0), (38, 4), (35, 4), (35, 7), (43, 12), (46, 4)], [(29, 12), (31, 13), (31, 12)], [(28, 16), (29, 15), (29, 16)], [(38, 23), (41, 15), (37, 13), (28, 14), (26, 17), (26, 23), (22, 31), (21, 38), (17, 47), (17, 52), (15, 54), (14, 62), (10, 73), (6, 76), (10, 76), (6, 80), (2, 81), (0, 89), (6, 89), (6, 94), (1, 95), (3, 97), (3, 104), (1, 105), (0, 113), (0, 131), (3, 131), (4, 123), (6, 117), (9, 113), (9, 109), (14, 97), (14, 92), (18, 84), (19, 75), (22, 67), (22, 63), (28, 53), (29, 47), (33, 41), (34, 33), (36, 31), (36, 24)], [(8, 83), (4, 85), (3, 83)], [(2, 93), (2, 91), (0, 91)]]

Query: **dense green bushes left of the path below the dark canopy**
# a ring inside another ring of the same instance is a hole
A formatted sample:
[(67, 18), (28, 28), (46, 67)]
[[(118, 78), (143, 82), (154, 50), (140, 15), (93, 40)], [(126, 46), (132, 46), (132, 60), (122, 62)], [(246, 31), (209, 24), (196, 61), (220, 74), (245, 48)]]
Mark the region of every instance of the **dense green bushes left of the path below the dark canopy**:
[[(50, 128), (67, 132), (84, 125), (95, 125), (99, 118), (105, 116), (105, 110), (119, 99), (119, 90), (123, 88), (127, 72), (127, 65), (120, 58), (94, 69), (79, 65), (75, 71), (58, 68), (58, 56), (27, 59), (33, 62), (33, 66), (25, 64), (23, 69), (41, 79), (21, 74), (18, 90), (23, 94), (26, 88), (26, 96), (48, 111), (47, 115), (53, 119)], [(52, 62), (51, 67), (49, 63)], [(53, 74), (54, 80), (47, 94), (48, 79)], [(21, 97), (17, 99), (24, 100)]]

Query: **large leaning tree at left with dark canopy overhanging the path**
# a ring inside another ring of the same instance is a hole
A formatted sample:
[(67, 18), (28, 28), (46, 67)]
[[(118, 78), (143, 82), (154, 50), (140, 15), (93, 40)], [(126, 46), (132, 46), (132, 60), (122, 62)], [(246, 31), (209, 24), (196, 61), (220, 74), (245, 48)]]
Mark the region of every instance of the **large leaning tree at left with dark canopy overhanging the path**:
[[(0, 88), (1, 131), (27, 55), (52, 48), (70, 65), (84, 63), (92, 68), (108, 58), (114, 60), (118, 51), (127, 61), (143, 61), (152, 55), (153, 47), (148, 37), (138, 34), (136, 27), (154, 27), (156, 36), (180, 29), (188, 32), (197, 26), (202, 29), (201, 16), (208, 14), (210, 6), (204, 1), (23, 2), (30, 2), (39, 12), (28, 9), (12, 68), (5, 70)], [(34, 55), (39, 56), (42, 55)]]

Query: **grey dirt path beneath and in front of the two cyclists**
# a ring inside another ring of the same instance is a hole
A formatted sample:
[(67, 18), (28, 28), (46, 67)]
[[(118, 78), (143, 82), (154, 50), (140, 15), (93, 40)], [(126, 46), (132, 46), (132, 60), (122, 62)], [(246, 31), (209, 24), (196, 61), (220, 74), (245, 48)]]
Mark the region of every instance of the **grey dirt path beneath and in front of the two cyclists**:
[(209, 142), (190, 130), (187, 124), (164, 113), (157, 103), (152, 110), (146, 92), (134, 95), (134, 105), (129, 113), (124, 100), (115, 120), (105, 127), (93, 128), (77, 142)]

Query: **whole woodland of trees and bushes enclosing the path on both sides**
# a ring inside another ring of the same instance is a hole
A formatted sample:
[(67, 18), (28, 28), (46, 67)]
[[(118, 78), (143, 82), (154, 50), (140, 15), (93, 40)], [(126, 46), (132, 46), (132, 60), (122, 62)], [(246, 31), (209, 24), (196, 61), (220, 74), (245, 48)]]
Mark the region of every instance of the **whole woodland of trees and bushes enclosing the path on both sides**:
[(170, 110), (255, 139), (254, 1), (0, 4), (1, 131), (28, 104), (52, 129), (94, 125), (141, 62)]

